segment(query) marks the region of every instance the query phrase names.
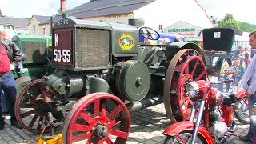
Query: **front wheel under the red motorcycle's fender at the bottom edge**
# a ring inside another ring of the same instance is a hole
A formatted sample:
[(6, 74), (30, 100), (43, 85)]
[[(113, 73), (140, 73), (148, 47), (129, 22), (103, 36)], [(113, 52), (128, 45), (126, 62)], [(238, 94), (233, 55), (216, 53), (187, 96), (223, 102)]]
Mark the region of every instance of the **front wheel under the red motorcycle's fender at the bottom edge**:
[[(184, 142), (189, 144), (191, 143), (193, 138), (193, 130), (182, 131), (178, 135), (180, 138), (178, 138), (177, 136), (167, 136), (164, 144), (177, 144), (177, 143), (184, 144)], [(198, 134), (194, 143), (205, 144), (207, 142), (206, 142), (206, 139), (202, 137), (202, 135)]]

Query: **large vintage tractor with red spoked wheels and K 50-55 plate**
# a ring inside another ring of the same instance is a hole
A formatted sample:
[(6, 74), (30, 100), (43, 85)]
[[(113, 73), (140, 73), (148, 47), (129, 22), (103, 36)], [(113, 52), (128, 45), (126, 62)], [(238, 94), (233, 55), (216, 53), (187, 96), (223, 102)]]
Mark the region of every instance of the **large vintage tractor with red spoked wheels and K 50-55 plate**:
[(63, 124), (63, 142), (125, 143), (130, 112), (164, 102), (172, 122), (190, 117), (188, 82), (207, 79), (194, 43), (147, 45), (148, 27), (63, 18), (53, 27), (54, 73), (26, 85), (15, 114), (40, 133)]

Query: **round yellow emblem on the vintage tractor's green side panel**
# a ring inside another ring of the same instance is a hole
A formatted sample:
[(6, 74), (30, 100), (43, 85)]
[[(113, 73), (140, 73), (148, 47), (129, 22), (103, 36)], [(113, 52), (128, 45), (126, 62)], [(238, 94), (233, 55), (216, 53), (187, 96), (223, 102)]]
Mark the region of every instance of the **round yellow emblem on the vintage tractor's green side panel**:
[(130, 34), (122, 34), (119, 39), (119, 46), (122, 50), (130, 50), (134, 47), (134, 38)]

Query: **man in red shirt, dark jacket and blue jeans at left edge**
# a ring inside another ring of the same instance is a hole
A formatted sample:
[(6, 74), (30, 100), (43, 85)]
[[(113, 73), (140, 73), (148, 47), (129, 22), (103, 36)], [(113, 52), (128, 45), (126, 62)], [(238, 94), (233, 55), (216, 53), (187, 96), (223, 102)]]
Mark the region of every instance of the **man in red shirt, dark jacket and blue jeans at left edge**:
[[(17, 128), (22, 128), (22, 126), (18, 125), (14, 112), (17, 91), (14, 75), (11, 70), (14, 70), (14, 67), (18, 65), (21, 58), (22, 52), (14, 42), (10, 41), (9, 33), (6, 30), (0, 31), (0, 90), (4, 91), (6, 100), (10, 104), (10, 123)], [(2, 118), (0, 102), (0, 130), (4, 128), (5, 124), (6, 122)]]

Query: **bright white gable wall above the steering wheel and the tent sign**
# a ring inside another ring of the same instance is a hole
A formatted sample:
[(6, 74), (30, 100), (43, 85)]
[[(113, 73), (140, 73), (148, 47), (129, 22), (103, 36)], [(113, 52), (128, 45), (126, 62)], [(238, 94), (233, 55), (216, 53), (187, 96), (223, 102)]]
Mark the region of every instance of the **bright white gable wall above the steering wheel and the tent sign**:
[(166, 27), (179, 21), (202, 28), (214, 27), (205, 11), (194, 0), (156, 0), (135, 10), (134, 18), (143, 18), (144, 26), (154, 30), (159, 30), (159, 25)]

